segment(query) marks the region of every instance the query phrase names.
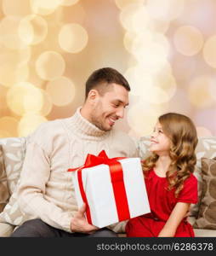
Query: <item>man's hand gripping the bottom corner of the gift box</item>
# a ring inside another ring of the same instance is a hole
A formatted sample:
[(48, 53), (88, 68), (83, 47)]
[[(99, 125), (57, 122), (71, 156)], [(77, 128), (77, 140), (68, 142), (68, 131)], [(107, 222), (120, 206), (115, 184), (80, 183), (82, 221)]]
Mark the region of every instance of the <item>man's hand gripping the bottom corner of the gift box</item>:
[(86, 205), (83, 204), (78, 212), (71, 219), (71, 231), (80, 233), (92, 233), (95, 230), (99, 230), (98, 227), (88, 224), (84, 213), (86, 212)]

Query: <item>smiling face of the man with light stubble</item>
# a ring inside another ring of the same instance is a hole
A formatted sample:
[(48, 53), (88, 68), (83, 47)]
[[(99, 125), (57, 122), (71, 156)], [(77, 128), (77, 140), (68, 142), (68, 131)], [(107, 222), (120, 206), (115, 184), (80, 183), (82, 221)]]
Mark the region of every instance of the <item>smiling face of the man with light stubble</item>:
[(124, 108), (128, 106), (128, 90), (122, 85), (110, 84), (103, 96), (97, 96), (91, 113), (91, 122), (102, 131), (110, 131), (117, 119), (124, 116)]

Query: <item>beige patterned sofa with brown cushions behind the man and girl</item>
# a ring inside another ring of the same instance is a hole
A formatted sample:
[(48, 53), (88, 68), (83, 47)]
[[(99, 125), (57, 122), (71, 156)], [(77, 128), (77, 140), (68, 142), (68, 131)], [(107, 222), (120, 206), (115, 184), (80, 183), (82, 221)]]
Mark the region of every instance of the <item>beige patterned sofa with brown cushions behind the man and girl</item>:
[[(28, 218), (20, 212), (17, 189), (26, 154), (28, 137), (0, 139), (0, 236), (10, 236), (13, 230)], [(149, 152), (149, 137), (136, 140), (139, 155)], [(196, 147), (196, 170), (199, 201), (190, 206), (188, 220), (195, 236), (216, 237), (216, 137), (199, 137)], [(214, 159), (215, 158), (215, 159)], [(125, 236), (123, 234), (119, 236)]]

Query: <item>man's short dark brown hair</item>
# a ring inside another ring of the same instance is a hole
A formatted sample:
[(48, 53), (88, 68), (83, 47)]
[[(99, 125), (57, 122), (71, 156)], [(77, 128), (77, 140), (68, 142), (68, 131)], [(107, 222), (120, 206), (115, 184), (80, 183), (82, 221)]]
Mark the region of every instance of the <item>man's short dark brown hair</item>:
[(119, 84), (122, 85), (126, 90), (130, 91), (130, 86), (128, 81), (119, 73), (116, 69), (111, 67), (103, 67), (95, 70), (94, 73), (90, 75), (86, 82), (86, 95), (87, 99), (88, 93), (92, 89), (99, 91), (100, 95), (103, 95), (107, 89), (109, 89), (109, 84)]

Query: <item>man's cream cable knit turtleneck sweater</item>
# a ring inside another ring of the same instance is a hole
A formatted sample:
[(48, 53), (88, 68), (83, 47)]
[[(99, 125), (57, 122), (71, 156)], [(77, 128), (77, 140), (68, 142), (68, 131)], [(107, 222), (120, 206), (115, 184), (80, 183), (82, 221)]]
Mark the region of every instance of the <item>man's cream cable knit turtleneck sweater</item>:
[[(20, 210), (29, 218), (41, 218), (68, 232), (77, 201), (67, 170), (82, 166), (88, 153), (99, 154), (102, 149), (110, 158), (138, 156), (127, 134), (99, 130), (82, 117), (80, 109), (71, 118), (43, 123), (31, 135), (18, 191)], [(111, 229), (122, 232), (124, 225), (114, 224)]]

